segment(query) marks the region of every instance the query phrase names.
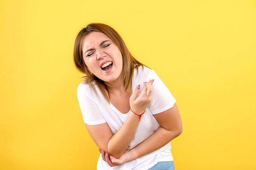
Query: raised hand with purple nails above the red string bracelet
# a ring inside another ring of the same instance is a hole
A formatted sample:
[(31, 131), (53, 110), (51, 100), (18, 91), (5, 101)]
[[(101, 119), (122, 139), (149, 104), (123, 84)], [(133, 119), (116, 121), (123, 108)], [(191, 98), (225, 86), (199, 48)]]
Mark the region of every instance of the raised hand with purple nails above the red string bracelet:
[(140, 85), (137, 86), (137, 88), (132, 92), (132, 96), (130, 96), (130, 108), (138, 115), (145, 111), (151, 101), (153, 81), (154, 80), (150, 80), (149, 82), (144, 83), (145, 87), (141, 90), (141, 94), (139, 96)]

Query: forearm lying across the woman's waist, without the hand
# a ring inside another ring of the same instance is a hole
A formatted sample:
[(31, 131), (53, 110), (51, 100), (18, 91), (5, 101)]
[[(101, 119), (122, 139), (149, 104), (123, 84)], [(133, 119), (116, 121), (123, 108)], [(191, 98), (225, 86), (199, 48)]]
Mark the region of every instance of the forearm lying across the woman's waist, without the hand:
[(146, 140), (138, 144), (135, 148), (130, 150), (129, 161), (137, 159), (148, 153), (151, 153), (162, 146), (166, 145), (172, 139), (180, 135), (182, 129), (175, 129), (173, 131), (168, 131), (162, 127), (159, 127), (155, 133), (150, 135)]

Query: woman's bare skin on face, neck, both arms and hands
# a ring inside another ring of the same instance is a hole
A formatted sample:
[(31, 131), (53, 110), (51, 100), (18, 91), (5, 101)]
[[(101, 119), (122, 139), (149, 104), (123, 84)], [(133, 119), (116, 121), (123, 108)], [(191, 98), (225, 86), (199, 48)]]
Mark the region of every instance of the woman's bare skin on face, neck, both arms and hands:
[[(83, 59), (88, 70), (108, 86), (112, 105), (121, 113), (128, 113), (130, 109), (137, 114), (143, 113), (151, 101), (153, 80), (144, 83), (143, 89), (140, 89), (140, 85), (138, 85), (132, 93), (125, 90), (121, 77), (123, 63), (121, 52), (116, 44), (103, 33), (92, 32), (86, 35), (82, 49)], [(108, 62), (112, 62), (110, 69), (102, 70), (101, 66)], [(140, 90), (141, 94), (138, 96)], [(110, 166), (117, 166), (161, 148), (182, 132), (182, 122), (176, 104), (171, 109), (154, 116), (160, 125), (159, 129), (131, 150), (127, 150), (127, 148), (139, 124), (139, 116), (134, 113), (129, 115), (115, 134), (112, 134), (107, 123), (85, 125), (92, 139), (100, 148), (102, 159), (107, 161)], [(123, 140), (124, 138), (126, 140)]]

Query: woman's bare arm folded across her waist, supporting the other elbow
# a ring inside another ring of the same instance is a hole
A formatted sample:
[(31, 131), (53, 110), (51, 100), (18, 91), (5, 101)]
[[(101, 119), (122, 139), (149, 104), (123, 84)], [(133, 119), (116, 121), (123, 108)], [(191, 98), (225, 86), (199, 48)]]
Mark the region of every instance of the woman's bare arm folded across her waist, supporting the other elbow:
[[(151, 153), (182, 133), (182, 121), (176, 104), (171, 109), (155, 114), (154, 116), (160, 125), (159, 129), (131, 150), (127, 150), (119, 159), (111, 156), (108, 157), (108, 154), (106, 154), (105, 159), (109, 165), (120, 165)], [(141, 119), (143, 119), (143, 116)]]

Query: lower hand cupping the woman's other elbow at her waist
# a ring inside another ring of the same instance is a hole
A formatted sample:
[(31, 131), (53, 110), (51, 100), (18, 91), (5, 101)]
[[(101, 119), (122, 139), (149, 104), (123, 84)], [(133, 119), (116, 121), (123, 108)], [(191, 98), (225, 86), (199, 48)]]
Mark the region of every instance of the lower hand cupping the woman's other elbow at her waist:
[(118, 159), (116, 159), (113, 156), (108, 155), (108, 153), (104, 152), (104, 150), (99, 149), (99, 151), (101, 153), (101, 158), (103, 159), (103, 161), (106, 161), (108, 163), (108, 165), (111, 166), (111, 167), (112, 166), (118, 166), (118, 165), (121, 165), (121, 164), (126, 163), (126, 162), (129, 161), (128, 156), (129, 156), (129, 151), (130, 150), (128, 150), (128, 149)]

